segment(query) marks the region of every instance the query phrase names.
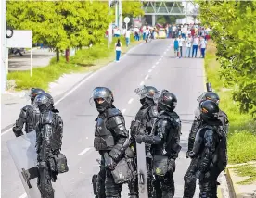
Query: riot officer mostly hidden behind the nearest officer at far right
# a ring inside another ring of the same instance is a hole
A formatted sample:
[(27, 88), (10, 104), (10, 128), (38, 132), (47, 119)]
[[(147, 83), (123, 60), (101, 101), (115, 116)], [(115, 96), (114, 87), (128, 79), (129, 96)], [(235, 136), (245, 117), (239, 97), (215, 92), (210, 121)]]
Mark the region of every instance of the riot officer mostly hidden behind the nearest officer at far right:
[[(213, 92), (203, 93), (198, 98), (198, 102), (199, 102), (198, 109), (196, 110), (196, 116), (194, 118), (194, 122), (192, 124), (191, 130), (189, 132), (189, 137), (188, 137), (188, 150), (186, 152), (187, 158), (189, 157), (189, 153), (193, 149), (198, 129), (201, 128), (203, 125), (203, 120), (200, 116), (199, 108), (200, 108), (201, 103), (206, 100), (211, 100), (218, 105), (220, 98), (217, 93), (213, 93)], [(219, 112), (219, 120), (222, 122), (223, 129), (227, 133), (228, 132), (228, 118), (227, 118), (227, 115), (221, 110)], [(192, 160), (191, 163), (195, 163), (194, 161), (195, 161), (195, 159)], [(193, 165), (191, 165), (190, 167), (193, 169)], [(191, 198), (195, 194), (197, 179), (196, 179), (195, 174), (191, 175), (193, 173), (194, 173), (193, 170), (190, 170), (190, 168), (187, 169), (186, 175), (184, 177), (184, 179), (185, 179), (184, 198)]]

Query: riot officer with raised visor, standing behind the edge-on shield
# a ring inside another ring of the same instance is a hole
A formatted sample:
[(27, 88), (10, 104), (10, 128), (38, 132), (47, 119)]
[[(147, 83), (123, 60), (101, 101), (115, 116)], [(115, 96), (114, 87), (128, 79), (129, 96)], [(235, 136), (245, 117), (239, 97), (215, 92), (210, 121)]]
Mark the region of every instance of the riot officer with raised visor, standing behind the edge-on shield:
[[(138, 92), (136, 92), (138, 91)], [(131, 146), (136, 149), (135, 136), (138, 134), (149, 135), (151, 133), (153, 124), (158, 118), (158, 109), (153, 100), (154, 93), (158, 90), (152, 86), (144, 86), (143, 89), (135, 90), (135, 93), (140, 95), (141, 108), (137, 112), (134, 121), (131, 125)], [(148, 197), (153, 196), (152, 192), (152, 155), (150, 154), (150, 144), (146, 143), (146, 156), (147, 156), (147, 191)], [(129, 183), (130, 195), (137, 197), (137, 179), (133, 180), (133, 183)]]

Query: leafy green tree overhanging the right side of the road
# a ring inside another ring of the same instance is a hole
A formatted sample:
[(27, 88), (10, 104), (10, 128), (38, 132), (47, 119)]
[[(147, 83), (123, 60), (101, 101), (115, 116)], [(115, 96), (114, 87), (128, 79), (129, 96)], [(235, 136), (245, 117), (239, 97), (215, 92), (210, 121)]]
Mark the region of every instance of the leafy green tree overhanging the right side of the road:
[(212, 28), (221, 75), (242, 112), (256, 112), (256, 2), (201, 2), (200, 19)]

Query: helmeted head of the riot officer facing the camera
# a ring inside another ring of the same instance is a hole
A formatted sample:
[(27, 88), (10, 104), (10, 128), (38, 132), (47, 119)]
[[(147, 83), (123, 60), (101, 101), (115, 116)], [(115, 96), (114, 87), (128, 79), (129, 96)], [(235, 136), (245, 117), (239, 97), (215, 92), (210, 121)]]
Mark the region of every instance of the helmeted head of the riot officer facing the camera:
[(98, 112), (104, 112), (107, 108), (112, 106), (114, 102), (114, 96), (111, 90), (107, 87), (96, 87), (90, 98), (90, 104), (95, 102)]

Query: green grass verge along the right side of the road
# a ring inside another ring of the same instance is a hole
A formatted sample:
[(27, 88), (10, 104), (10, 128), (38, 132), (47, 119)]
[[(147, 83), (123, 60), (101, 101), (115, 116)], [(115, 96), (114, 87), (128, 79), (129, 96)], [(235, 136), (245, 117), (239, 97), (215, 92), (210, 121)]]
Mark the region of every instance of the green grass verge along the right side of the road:
[(220, 95), (220, 107), (229, 118), (228, 162), (229, 164), (245, 163), (256, 160), (256, 122), (250, 114), (240, 114), (232, 99), (232, 87), (224, 89), (224, 80), (220, 79), (220, 64), (216, 61), (216, 48), (209, 42), (205, 58), (207, 79), (212, 88)]

